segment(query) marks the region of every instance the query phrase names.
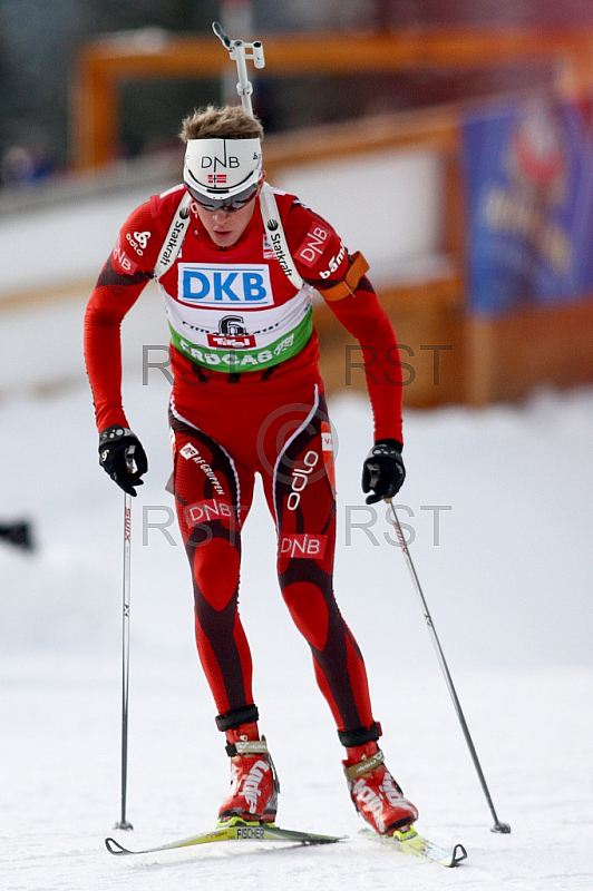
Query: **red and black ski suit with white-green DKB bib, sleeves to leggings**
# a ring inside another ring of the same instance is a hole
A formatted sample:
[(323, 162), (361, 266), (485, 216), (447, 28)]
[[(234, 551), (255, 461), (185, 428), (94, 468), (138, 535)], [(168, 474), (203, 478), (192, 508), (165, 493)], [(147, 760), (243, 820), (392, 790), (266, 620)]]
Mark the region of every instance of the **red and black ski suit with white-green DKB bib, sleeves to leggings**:
[[(90, 297), (85, 352), (99, 431), (129, 427), (119, 326), (154, 277), (184, 195), (182, 185), (134, 210)], [(331, 288), (353, 261), (324, 219), (293, 195), (275, 193), (275, 199), (303, 288), (289, 281), (275, 256), (259, 199), (245, 232), (227, 248), (211, 241), (189, 207), (181, 251), (158, 282), (172, 332), (173, 480), (192, 570), (197, 650), (220, 718), (250, 716), (252, 660), (237, 600), (241, 529), (259, 472), (278, 531), (280, 587), (311, 647), (319, 687), (338, 731), (363, 731), (373, 726), (367, 674), (332, 588), (331, 430), (311, 323), (312, 288), (334, 296)], [(392, 326), (366, 276), (353, 293), (342, 288), (346, 296), (329, 305), (372, 364), (367, 380), (375, 439), (402, 441)]]

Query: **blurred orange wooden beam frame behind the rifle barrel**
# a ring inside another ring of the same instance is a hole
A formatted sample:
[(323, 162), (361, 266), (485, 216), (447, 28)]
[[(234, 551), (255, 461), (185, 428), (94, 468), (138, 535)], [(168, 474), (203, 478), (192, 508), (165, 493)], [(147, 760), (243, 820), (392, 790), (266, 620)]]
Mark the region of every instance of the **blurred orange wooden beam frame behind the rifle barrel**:
[[(265, 35), (265, 76), (364, 75), (422, 68), (467, 69), (508, 61), (555, 60), (558, 82), (593, 77), (593, 35), (562, 30), (449, 29), (398, 33)], [(78, 168), (117, 156), (118, 90), (124, 79), (218, 77), (234, 63), (214, 36), (116, 35), (88, 43), (75, 78)]]

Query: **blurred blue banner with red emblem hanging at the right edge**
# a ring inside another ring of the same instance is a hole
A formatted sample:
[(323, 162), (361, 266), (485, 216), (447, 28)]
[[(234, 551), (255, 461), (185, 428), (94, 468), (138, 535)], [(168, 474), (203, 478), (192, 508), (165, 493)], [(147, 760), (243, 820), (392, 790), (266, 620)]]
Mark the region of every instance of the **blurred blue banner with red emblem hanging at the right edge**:
[(591, 100), (539, 95), (472, 110), (463, 145), (469, 306), (497, 314), (591, 293)]

